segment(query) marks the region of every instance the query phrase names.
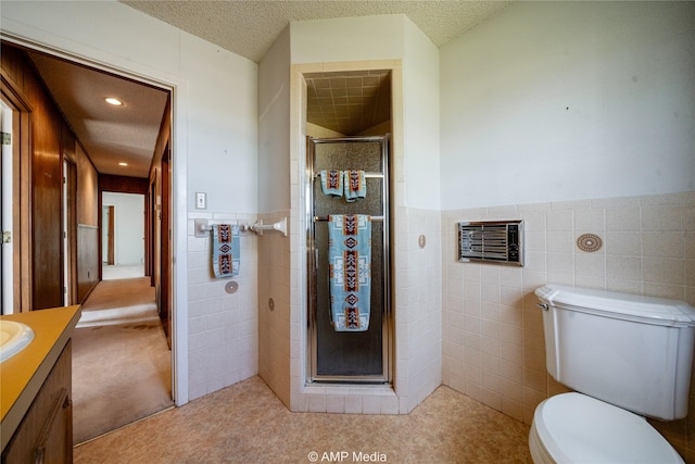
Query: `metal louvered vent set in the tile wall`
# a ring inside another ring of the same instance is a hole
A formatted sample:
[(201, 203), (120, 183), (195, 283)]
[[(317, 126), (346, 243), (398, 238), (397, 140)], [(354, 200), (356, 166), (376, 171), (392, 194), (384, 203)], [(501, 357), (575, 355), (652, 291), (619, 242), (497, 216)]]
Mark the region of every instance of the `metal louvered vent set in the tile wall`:
[(523, 222), (458, 223), (458, 261), (523, 265)]

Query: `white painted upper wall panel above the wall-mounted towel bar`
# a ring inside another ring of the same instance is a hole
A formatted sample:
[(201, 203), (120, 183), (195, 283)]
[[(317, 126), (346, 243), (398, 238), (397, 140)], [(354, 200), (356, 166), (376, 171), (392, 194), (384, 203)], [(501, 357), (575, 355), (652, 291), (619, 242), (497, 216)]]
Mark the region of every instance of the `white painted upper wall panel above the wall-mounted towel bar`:
[(181, 74), (194, 85), (186, 96), (188, 196), (207, 193), (207, 210), (258, 210), (257, 65), (201, 39), (181, 40)]

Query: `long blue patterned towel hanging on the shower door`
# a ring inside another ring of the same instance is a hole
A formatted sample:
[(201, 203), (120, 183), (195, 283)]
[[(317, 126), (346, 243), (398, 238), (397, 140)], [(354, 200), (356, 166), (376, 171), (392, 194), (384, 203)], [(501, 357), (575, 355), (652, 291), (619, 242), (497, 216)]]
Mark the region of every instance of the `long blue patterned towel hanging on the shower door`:
[(328, 216), (330, 311), (336, 331), (369, 328), (371, 217)]

